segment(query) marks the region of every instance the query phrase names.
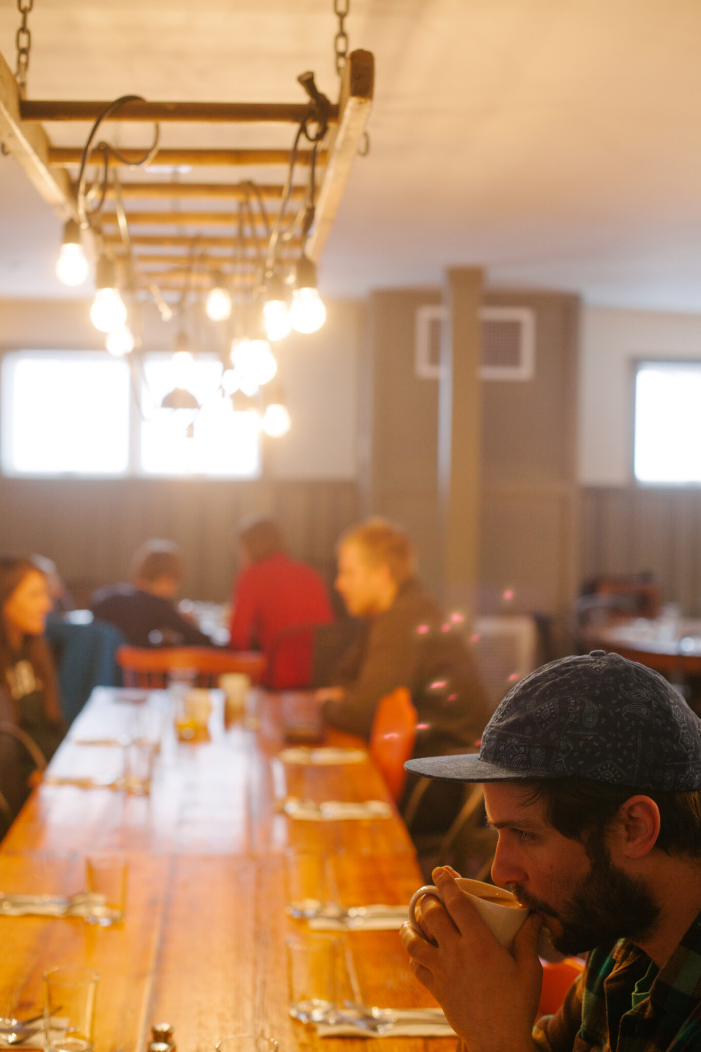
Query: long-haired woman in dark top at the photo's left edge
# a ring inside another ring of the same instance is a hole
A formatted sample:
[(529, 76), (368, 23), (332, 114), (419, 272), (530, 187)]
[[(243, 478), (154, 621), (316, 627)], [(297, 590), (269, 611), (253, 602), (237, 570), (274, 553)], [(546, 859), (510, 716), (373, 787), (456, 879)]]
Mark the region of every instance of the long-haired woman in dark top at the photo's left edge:
[[(64, 734), (56, 671), (44, 639), (51, 608), (46, 578), (32, 558), (0, 558), (0, 791), (14, 816), (26, 798), (28, 777), (51, 758)], [(19, 728), (25, 748), (8, 733)], [(2, 816), (0, 815), (0, 825)]]

